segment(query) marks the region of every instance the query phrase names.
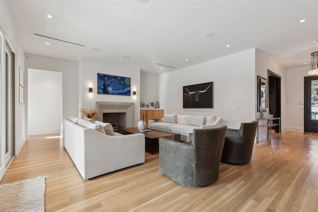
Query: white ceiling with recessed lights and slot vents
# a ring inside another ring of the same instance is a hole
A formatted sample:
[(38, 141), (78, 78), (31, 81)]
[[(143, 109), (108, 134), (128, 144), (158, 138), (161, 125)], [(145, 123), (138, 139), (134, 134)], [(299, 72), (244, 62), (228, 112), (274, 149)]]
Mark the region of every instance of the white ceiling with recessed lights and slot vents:
[(318, 0), (9, 0), (9, 7), (27, 53), (116, 61), (153, 74), (250, 48), (285, 69), (308, 67), (318, 51)]

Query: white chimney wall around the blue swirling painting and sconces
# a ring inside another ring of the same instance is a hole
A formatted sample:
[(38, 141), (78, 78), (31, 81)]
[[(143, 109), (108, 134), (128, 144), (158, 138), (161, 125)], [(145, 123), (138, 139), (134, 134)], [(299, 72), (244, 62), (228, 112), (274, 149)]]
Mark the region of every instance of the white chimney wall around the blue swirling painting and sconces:
[[(95, 108), (95, 102), (134, 102), (135, 117), (134, 123), (140, 119), (140, 68), (122, 64), (106, 63), (102, 61), (82, 58), (79, 70), (79, 108)], [(105, 73), (116, 76), (131, 78), (131, 96), (97, 94), (97, 73)], [(93, 93), (90, 96), (88, 87), (92, 84)], [(136, 88), (136, 96), (132, 95)]]

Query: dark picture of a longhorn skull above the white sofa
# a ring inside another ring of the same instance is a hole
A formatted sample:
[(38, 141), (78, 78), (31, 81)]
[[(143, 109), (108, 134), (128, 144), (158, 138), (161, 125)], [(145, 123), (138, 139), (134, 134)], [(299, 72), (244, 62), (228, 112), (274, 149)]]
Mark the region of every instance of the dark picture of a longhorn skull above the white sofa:
[(183, 86), (183, 108), (213, 108), (213, 82)]

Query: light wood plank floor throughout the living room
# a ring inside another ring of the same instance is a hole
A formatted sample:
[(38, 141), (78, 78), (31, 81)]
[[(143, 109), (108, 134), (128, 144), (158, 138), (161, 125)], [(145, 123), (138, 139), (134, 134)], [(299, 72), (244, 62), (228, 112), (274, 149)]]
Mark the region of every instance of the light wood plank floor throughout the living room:
[[(51, 135), (50, 135), (51, 136)], [(46, 178), (45, 209), (51, 211), (317, 212), (318, 136), (287, 132), (272, 144), (254, 144), (246, 165), (220, 164), (212, 185), (181, 186), (159, 172), (159, 154), (146, 162), (84, 181), (60, 138), (26, 141), (0, 184)]]

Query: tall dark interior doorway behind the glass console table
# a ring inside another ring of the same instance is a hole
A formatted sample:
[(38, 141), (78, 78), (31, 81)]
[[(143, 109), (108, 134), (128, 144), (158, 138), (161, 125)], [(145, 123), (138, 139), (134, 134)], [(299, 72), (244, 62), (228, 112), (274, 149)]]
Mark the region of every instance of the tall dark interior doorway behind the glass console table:
[[(268, 111), (275, 118), (281, 118), (281, 76), (273, 71), (267, 70), (268, 73)], [(275, 120), (278, 122), (278, 120)], [(275, 133), (279, 133), (279, 126), (273, 127)]]

